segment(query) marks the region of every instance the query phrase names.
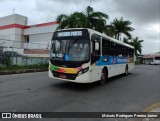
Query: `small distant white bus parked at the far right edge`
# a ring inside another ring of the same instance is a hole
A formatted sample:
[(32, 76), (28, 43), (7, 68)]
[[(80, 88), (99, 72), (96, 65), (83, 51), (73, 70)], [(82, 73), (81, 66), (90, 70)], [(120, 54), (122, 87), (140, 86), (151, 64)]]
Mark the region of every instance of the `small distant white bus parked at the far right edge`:
[(160, 55), (149, 55), (143, 57), (143, 63), (144, 64), (153, 64), (153, 65), (159, 65), (160, 64)]

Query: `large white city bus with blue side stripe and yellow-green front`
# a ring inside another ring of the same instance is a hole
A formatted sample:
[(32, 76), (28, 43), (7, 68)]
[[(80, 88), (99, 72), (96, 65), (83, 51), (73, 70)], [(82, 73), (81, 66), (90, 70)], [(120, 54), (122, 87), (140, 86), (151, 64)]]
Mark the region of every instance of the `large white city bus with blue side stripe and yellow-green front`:
[(134, 47), (92, 29), (55, 31), (51, 40), (49, 77), (76, 83), (99, 81), (134, 68)]

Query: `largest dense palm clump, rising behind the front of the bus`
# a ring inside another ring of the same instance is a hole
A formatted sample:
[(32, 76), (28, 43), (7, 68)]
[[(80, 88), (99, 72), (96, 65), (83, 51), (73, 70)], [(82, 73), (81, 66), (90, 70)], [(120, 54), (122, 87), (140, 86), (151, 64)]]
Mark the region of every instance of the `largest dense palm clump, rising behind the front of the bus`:
[(74, 12), (70, 15), (61, 14), (57, 17), (59, 26), (63, 28), (91, 28), (103, 32), (108, 15), (102, 12), (94, 12), (93, 8), (88, 6), (86, 12)]

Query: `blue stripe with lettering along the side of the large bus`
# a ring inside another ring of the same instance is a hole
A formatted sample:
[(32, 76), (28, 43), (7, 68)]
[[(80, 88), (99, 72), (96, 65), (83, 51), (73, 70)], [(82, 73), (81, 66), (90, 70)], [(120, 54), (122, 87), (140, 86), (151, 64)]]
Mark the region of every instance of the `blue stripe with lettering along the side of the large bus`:
[(110, 57), (110, 56), (101, 56), (96, 66), (101, 65), (112, 65), (112, 64), (125, 64), (130, 63), (129, 57)]

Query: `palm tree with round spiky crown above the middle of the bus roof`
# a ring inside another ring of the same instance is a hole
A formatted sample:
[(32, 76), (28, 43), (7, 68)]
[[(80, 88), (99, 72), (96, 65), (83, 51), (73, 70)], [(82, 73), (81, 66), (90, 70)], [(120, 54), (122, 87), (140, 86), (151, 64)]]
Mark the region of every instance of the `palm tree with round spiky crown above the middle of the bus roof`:
[(130, 27), (131, 23), (130, 21), (124, 21), (122, 17), (119, 20), (115, 18), (110, 25), (110, 28), (114, 30), (115, 39), (119, 40), (122, 33), (131, 38), (130, 32), (134, 30)]

